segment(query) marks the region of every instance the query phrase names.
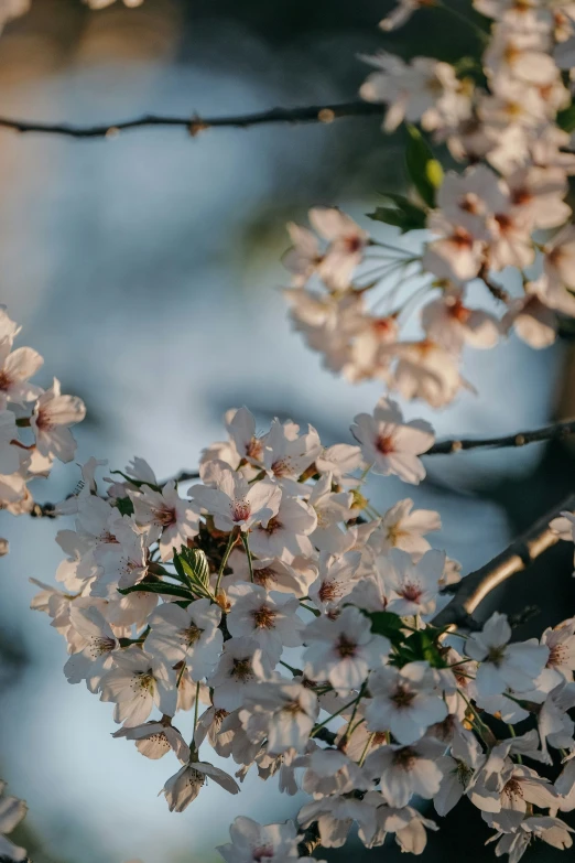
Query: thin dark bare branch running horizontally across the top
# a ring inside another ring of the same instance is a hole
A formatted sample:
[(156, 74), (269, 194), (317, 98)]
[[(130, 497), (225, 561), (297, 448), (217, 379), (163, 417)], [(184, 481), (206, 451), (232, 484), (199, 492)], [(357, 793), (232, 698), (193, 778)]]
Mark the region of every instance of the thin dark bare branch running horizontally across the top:
[(17, 120), (0, 117), (0, 127), (13, 129), (17, 132), (37, 132), (41, 134), (63, 134), (67, 138), (113, 138), (127, 129), (144, 127), (180, 127), (186, 129), (192, 137), (207, 129), (248, 129), (251, 126), (270, 123), (330, 123), (346, 117), (381, 117), (383, 107), (368, 101), (344, 101), (335, 105), (304, 105), (296, 108), (271, 108), (267, 111), (252, 114), (228, 115), (224, 117), (170, 117), (145, 114), (131, 120), (97, 123), (96, 126), (79, 126), (74, 123), (36, 122), (35, 120)]

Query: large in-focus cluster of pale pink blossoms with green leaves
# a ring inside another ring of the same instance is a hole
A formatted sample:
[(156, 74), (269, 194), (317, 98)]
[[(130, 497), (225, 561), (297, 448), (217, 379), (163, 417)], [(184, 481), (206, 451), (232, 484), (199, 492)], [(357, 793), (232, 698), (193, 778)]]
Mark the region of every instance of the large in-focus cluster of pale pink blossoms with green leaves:
[(185, 497), (140, 459), (102, 488), (90, 462), (57, 535), (59, 586), (33, 601), (68, 681), (113, 703), (113, 736), (180, 763), (170, 809), (209, 779), (237, 794), (250, 769), (311, 796), (299, 829), (237, 819), (227, 863), (340, 846), (354, 822), (369, 848), (393, 834), (420, 853), (437, 826), (414, 798), (445, 816), (466, 797), (512, 861), (535, 838), (568, 848), (575, 619), (523, 643), (498, 613), (468, 636), (438, 627), (459, 573), (427, 540), (437, 513), (379, 515), (364, 494), (369, 471), (419, 482), (432, 430), (384, 399), (356, 417), (359, 445), (291, 421), (258, 434), (246, 408), (225, 422)]

